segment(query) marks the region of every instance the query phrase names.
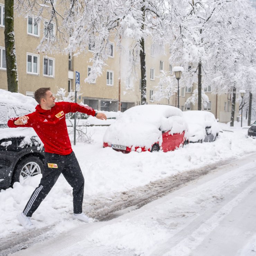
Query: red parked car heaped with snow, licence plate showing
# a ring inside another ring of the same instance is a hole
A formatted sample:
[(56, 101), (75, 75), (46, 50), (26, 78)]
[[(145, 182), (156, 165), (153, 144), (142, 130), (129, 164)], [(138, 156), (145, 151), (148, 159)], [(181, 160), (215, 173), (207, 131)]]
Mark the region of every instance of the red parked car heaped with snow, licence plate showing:
[(167, 105), (140, 105), (127, 109), (108, 127), (103, 147), (116, 151), (172, 151), (183, 146), (188, 131), (182, 111)]

